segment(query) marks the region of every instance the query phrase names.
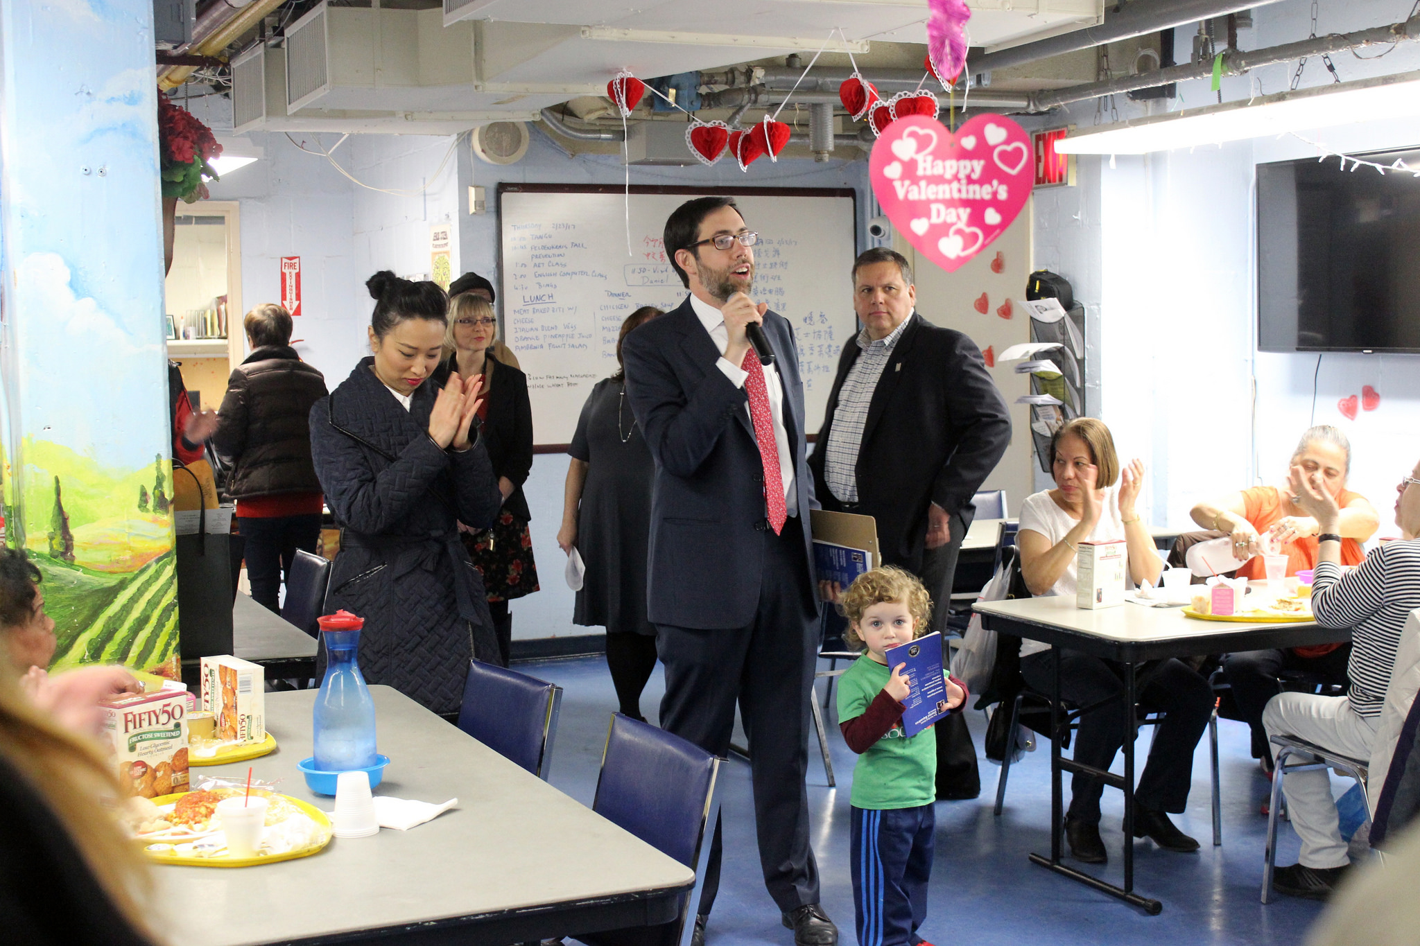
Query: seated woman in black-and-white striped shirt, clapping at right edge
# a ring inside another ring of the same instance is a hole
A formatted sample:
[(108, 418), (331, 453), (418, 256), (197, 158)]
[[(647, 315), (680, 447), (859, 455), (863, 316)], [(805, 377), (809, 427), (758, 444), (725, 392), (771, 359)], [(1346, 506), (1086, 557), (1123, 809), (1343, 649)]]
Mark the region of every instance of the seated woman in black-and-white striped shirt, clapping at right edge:
[[(1292, 495), (1321, 523), (1312, 611), (1323, 627), (1352, 628), (1345, 696), (1279, 694), (1262, 711), (1269, 736), (1289, 735), (1353, 759), (1369, 759), (1380, 723), (1396, 645), (1410, 611), (1420, 607), (1420, 464), (1397, 486), (1396, 525), (1403, 539), (1372, 552), (1355, 572), (1342, 574), (1340, 509), (1316, 474), (1292, 467)], [(1282, 894), (1325, 899), (1350, 867), (1342, 841), (1326, 769), (1295, 772), (1282, 783), (1302, 854), (1278, 868), (1272, 885)]]

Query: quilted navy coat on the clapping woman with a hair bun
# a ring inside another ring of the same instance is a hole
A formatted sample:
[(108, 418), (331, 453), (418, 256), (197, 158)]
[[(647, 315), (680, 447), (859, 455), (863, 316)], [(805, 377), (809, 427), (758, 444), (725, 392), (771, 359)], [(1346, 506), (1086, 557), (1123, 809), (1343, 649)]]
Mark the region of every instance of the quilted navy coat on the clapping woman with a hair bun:
[(365, 357), (311, 408), (311, 458), (341, 525), (327, 613), (365, 618), (359, 665), (436, 713), (457, 712), (469, 660), (498, 662), (483, 579), (457, 522), (486, 529), (503, 496), (481, 441), (463, 452), (429, 438), (437, 391), (409, 411)]

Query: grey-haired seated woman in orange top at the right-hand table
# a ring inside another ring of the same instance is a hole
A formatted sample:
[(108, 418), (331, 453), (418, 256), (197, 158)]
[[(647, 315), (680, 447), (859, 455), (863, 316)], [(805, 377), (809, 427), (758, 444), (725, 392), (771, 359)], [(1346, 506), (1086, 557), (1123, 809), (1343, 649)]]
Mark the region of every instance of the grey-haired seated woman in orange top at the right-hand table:
[[(1365, 553), (1360, 543), (1380, 525), (1380, 516), (1359, 494), (1346, 489), (1350, 472), (1350, 443), (1335, 427), (1312, 427), (1302, 434), (1288, 464), (1301, 467), (1308, 475), (1321, 477), (1323, 488), (1336, 496), (1340, 506), (1338, 533), (1342, 538), (1342, 564), (1360, 564)], [(1296, 496), (1291, 488), (1254, 486), (1228, 494), (1193, 508), (1193, 521), (1204, 529), (1227, 532), (1233, 536), (1233, 556), (1247, 559), (1237, 570), (1238, 577), (1264, 579), (1265, 539), (1275, 542), (1278, 555), (1285, 555), (1287, 573), (1316, 566), (1316, 519), (1298, 515)], [(1267, 701), (1282, 691), (1277, 677), (1284, 669), (1304, 669), (1319, 674), (1335, 684), (1346, 682), (1349, 644), (1322, 644), (1271, 651), (1247, 651), (1223, 658), (1223, 669), (1233, 685), (1233, 699), (1238, 713), (1252, 728), (1252, 757), (1260, 759), (1262, 772), (1272, 774), (1272, 752), (1262, 729), (1262, 709)]]

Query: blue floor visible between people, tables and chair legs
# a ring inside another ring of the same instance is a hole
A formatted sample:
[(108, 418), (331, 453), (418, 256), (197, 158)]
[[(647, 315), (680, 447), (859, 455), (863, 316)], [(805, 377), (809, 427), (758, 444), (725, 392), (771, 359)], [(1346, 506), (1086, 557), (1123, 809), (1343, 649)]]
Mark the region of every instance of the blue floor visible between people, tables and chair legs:
[[(551, 781), (589, 806), (596, 790), (606, 728), (611, 713), (616, 711), (606, 664), (596, 657), (518, 664), (518, 669), (564, 688)], [(663, 688), (657, 668), (642, 696), (642, 713), (652, 722), (656, 722)], [(819, 681), (821, 696), (822, 688)], [(973, 712), (968, 720), (980, 755), (985, 726), (983, 715)], [(824, 908), (839, 925), (841, 942), (849, 946), (855, 937), (853, 892), (848, 878), (848, 796), (855, 756), (838, 733), (832, 711), (825, 725), (831, 729), (829, 746), (838, 787), (828, 787), (818, 746), (811, 745), (808, 798), (812, 842), (822, 877)], [(1207, 736), (1198, 743), (1193, 766), (1189, 811), (1174, 818), (1187, 834), (1203, 842), (1203, 851), (1172, 854), (1157, 850), (1147, 840), (1135, 842), (1135, 886), (1145, 896), (1163, 901), (1162, 915), (1146, 916), (1027, 861), (1025, 855), (1031, 851), (1049, 854), (1049, 755), (1048, 747), (1042, 747), (1012, 766), (1001, 817), (991, 814), (1001, 770), (984, 757), (980, 759), (980, 798), (937, 803), (932, 905), (922, 936), (937, 946), (1299, 943), (1322, 905), (1288, 896), (1277, 896), (1265, 906), (1258, 902), (1267, 834), (1267, 818), (1258, 810), (1267, 797), (1268, 781), (1248, 755), (1247, 726), (1221, 720), (1218, 735), (1223, 847), (1211, 845)], [(1139, 743), (1140, 764), (1147, 740), (1149, 730), (1145, 729)], [(737, 742), (743, 745), (743, 739)], [(1120, 764), (1122, 760), (1116, 760), (1116, 769)], [(724, 878), (707, 946), (790, 946), (792, 936), (780, 925), (778, 911), (765, 894), (760, 875), (750, 770), (743, 760), (731, 757), (723, 769), (721, 797)], [(1123, 881), (1122, 817), (1119, 793), (1106, 789), (1100, 830), (1110, 864), (1103, 877), (1115, 884)], [(1279, 828), (1278, 848), (1278, 864), (1296, 861), (1296, 835), (1287, 824)]]

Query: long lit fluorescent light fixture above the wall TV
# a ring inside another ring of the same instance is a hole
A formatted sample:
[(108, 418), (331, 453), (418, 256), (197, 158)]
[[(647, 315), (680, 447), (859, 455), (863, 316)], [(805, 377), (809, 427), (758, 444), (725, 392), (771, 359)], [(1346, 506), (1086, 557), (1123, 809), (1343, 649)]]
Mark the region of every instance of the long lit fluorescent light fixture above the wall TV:
[(1420, 115), (1420, 71), (1275, 92), (1072, 132), (1061, 155), (1145, 155)]

